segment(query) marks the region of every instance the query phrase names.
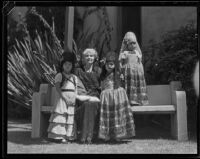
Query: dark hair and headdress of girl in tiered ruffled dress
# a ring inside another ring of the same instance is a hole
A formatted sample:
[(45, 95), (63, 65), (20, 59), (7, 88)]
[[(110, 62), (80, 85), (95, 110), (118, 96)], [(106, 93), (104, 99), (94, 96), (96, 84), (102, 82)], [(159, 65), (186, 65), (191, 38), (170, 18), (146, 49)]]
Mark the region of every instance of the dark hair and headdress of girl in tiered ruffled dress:
[(62, 54), (62, 60), (61, 60), (61, 63), (60, 63), (60, 72), (63, 72), (63, 65), (67, 61), (72, 63), (71, 73), (73, 73), (74, 69), (75, 69), (76, 56), (75, 56), (74, 53), (67, 52), (67, 51), (63, 52), (63, 54)]

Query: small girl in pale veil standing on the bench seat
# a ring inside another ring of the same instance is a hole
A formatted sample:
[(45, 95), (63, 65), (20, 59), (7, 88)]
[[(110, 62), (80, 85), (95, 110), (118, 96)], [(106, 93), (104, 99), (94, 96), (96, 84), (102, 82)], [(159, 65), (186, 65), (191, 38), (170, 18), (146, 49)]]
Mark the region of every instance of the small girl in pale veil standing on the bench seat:
[(123, 87), (131, 105), (148, 104), (147, 88), (142, 65), (142, 52), (133, 32), (124, 36), (120, 55), (120, 69), (123, 73)]

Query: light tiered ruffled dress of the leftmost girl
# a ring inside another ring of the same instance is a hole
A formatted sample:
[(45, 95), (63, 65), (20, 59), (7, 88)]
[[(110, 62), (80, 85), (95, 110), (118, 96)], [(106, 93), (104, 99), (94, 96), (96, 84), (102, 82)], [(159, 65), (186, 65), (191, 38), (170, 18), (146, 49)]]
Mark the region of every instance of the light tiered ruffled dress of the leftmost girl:
[[(58, 73), (55, 77), (55, 82), (61, 82), (62, 78), (64, 78), (64, 75)], [(48, 138), (76, 139), (76, 122), (74, 118), (76, 82), (75, 75), (70, 79), (65, 78), (63, 80), (61, 91), (67, 103), (62, 98), (58, 98), (49, 119)]]

